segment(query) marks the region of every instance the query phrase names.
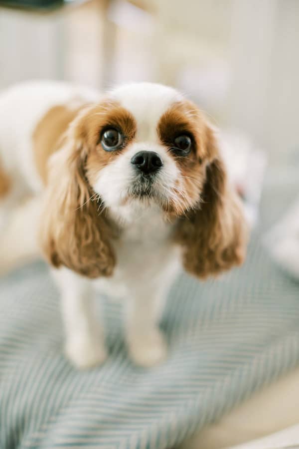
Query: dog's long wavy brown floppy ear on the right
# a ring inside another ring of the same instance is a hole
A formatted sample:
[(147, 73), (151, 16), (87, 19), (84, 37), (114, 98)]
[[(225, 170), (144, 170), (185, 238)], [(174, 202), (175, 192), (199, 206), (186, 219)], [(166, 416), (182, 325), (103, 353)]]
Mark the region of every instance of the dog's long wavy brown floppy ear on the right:
[(184, 267), (200, 278), (241, 264), (247, 244), (242, 206), (228, 184), (217, 140), (209, 125), (206, 125), (203, 144), (210, 158), (203, 192), (197, 206), (179, 219), (177, 228)]

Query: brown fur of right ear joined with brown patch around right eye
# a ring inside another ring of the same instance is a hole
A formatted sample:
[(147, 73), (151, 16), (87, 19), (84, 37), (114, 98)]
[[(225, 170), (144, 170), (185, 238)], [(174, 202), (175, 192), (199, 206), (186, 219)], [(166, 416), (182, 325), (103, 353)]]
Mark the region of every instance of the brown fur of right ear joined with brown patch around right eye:
[(214, 132), (190, 102), (173, 105), (158, 124), (161, 142), (167, 146), (184, 133), (192, 136), (193, 148), (186, 157), (173, 156), (182, 174), (179, 201), (184, 207), (178, 214), (175, 240), (183, 247), (185, 269), (206, 278), (243, 262), (247, 226), (237, 195), (227, 183)]

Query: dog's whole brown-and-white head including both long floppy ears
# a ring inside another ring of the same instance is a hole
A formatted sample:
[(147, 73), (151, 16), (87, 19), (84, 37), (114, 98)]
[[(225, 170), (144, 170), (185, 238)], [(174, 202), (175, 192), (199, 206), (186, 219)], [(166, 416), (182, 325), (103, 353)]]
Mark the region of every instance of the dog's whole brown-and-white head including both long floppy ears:
[(129, 84), (83, 107), (51, 159), (47, 191), (42, 238), (56, 266), (111, 274), (107, 213), (151, 205), (175, 222), (190, 272), (204, 277), (243, 260), (244, 219), (215, 132), (170, 87)]

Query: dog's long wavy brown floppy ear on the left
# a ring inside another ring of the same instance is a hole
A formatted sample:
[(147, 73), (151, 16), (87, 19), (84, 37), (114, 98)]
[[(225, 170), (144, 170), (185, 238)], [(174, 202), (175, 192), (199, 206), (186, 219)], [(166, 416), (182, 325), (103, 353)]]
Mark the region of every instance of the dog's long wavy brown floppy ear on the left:
[(84, 136), (75, 138), (72, 131), (71, 127), (50, 159), (40, 219), (42, 249), (55, 267), (65, 265), (90, 278), (109, 276), (115, 265), (110, 226), (105, 211), (98, 212), (97, 197), (85, 176)]

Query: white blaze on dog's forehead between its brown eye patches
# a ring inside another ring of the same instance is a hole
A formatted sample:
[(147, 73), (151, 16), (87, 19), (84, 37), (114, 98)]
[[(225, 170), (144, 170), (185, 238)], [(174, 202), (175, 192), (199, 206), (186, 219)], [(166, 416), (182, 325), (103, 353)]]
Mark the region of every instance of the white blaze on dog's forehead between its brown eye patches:
[(133, 83), (116, 88), (110, 95), (134, 116), (137, 140), (156, 140), (161, 115), (183, 96), (172, 87), (155, 83)]

